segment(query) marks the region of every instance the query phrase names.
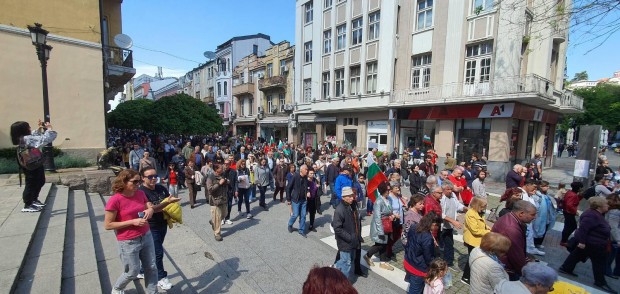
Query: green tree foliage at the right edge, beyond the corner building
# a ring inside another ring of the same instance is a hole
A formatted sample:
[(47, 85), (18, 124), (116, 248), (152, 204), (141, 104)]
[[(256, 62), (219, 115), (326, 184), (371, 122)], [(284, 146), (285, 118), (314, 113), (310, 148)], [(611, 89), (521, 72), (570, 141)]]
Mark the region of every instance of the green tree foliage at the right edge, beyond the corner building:
[(566, 116), (560, 126), (562, 130), (568, 129), (568, 121), (572, 117), (577, 125), (602, 125), (604, 129), (620, 131), (620, 86), (599, 84), (592, 88), (577, 89), (575, 94), (583, 97), (585, 111)]

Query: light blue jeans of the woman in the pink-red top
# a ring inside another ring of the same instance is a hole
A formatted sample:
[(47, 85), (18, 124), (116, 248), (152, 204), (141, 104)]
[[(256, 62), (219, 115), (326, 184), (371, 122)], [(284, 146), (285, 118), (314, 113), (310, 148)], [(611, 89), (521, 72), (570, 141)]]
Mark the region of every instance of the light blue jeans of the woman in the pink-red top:
[(155, 265), (155, 246), (151, 232), (131, 240), (118, 241), (123, 273), (114, 283), (114, 288), (123, 290), (140, 273), (140, 263), (144, 267), (144, 284), (147, 293), (157, 293), (157, 265)]

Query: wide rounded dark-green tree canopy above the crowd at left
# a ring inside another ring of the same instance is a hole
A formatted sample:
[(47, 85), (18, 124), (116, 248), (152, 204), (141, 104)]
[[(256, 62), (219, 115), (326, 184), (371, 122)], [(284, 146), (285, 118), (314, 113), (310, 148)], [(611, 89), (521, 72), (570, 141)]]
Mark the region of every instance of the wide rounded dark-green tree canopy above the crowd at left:
[(207, 135), (223, 131), (223, 121), (217, 110), (186, 94), (163, 97), (155, 102), (126, 101), (108, 113), (107, 119), (111, 127), (164, 134)]

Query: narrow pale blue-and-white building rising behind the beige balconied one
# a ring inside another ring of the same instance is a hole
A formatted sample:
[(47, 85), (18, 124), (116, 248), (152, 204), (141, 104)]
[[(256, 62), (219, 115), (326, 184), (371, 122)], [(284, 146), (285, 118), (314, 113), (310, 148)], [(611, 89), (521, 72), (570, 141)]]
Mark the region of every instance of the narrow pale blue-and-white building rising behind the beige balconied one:
[(233, 37), (217, 46), (215, 51), (215, 105), (224, 118), (224, 126), (230, 125), (233, 114), (232, 69), (241, 58), (250, 54), (263, 55), (273, 43), (264, 34)]

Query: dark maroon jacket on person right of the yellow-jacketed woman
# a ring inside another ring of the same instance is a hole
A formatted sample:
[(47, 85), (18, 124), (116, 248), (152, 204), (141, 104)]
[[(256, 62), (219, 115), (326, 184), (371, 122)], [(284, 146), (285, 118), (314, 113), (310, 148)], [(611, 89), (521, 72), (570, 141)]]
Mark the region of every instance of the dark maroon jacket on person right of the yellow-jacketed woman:
[(491, 232), (499, 233), (510, 239), (510, 249), (500, 260), (506, 265), (506, 271), (521, 273), (527, 263), (525, 255), (525, 224), (522, 224), (512, 213), (500, 217), (493, 225)]

